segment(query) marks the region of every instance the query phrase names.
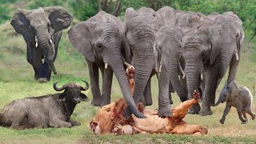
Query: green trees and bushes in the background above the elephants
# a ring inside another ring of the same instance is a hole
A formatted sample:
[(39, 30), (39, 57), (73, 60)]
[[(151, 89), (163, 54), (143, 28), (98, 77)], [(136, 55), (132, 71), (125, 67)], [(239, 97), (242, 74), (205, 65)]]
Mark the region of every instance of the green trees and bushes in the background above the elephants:
[(2, 3), (0, 23), (10, 20), (17, 8), (37, 9), (40, 6), (63, 6), (70, 10), (78, 21), (85, 21), (99, 10), (123, 18), (126, 8), (133, 7), (137, 10), (142, 6), (154, 10), (162, 6), (171, 6), (175, 10), (197, 11), (202, 14), (233, 11), (242, 19), (246, 37), (251, 41), (256, 35), (256, 0), (0, 0), (0, 2)]

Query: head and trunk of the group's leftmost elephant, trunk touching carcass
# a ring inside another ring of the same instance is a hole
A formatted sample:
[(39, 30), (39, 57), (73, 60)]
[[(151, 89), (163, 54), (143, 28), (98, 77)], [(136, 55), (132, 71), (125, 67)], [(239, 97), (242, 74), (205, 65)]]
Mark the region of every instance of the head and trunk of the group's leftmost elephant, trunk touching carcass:
[(123, 22), (113, 15), (100, 11), (86, 22), (79, 22), (71, 27), (68, 34), (70, 42), (87, 60), (104, 62), (105, 66), (112, 68), (126, 99), (126, 112), (135, 114), (138, 118), (145, 118), (139, 113), (130, 94), (123, 66), (122, 49), (129, 51), (123, 35)]

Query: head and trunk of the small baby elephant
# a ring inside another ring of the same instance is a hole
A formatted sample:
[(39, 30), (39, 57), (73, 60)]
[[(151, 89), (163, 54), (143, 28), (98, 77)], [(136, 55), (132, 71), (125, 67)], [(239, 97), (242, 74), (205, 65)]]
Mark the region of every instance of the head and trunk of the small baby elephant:
[(219, 94), (218, 102), (216, 102), (214, 106), (218, 106), (220, 103), (234, 99), (238, 96), (239, 91), (240, 89), (235, 81), (230, 82), (229, 85), (226, 83)]

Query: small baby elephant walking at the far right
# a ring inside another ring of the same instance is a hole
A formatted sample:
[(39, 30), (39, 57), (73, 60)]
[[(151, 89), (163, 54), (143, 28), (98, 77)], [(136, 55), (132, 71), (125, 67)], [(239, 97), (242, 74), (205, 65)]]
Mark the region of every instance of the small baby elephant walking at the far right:
[(235, 81), (230, 82), (228, 86), (225, 85), (219, 95), (218, 102), (214, 104), (214, 106), (218, 106), (220, 102), (226, 102), (226, 108), (223, 112), (222, 119), (219, 120), (222, 124), (224, 124), (226, 115), (230, 112), (231, 106), (237, 108), (238, 116), (242, 121), (242, 124), (248, 122), (246, 113), (250, 114), (253, 120), (255, 118), (255, 113), (251, 111), (253, 97), (246, 86), (238, 87)]

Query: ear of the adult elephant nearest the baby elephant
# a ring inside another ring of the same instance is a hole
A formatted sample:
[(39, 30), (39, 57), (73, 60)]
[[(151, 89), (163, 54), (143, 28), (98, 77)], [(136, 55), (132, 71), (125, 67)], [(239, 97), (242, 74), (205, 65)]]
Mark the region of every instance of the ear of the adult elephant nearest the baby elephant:
[(206, 27), (207, 35), (209, 38), (209, 42), (211, 44), (210, 50), (210, 65), (212, 65), (217, 58), (218, 54), (220, 54), (220, 46), (219, 46), (219, 37), (220, 34), (218, 32), (218, 27), (214, 26), (207, 26)]

